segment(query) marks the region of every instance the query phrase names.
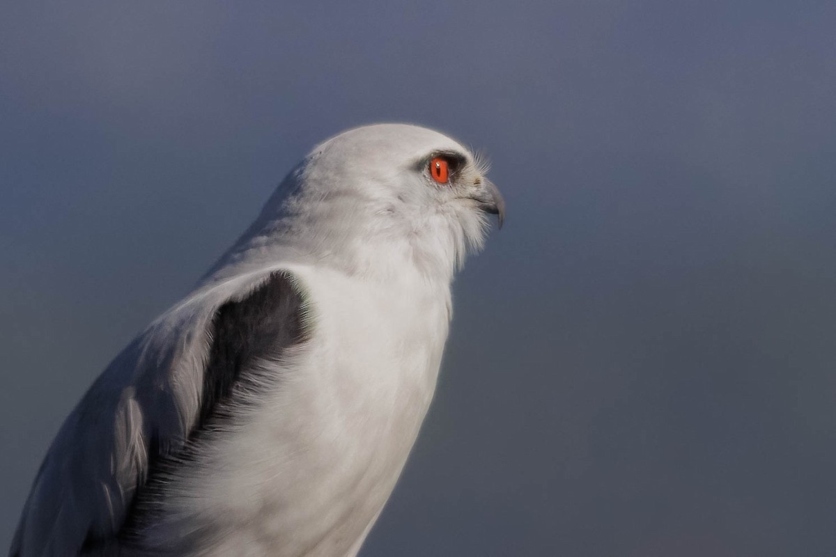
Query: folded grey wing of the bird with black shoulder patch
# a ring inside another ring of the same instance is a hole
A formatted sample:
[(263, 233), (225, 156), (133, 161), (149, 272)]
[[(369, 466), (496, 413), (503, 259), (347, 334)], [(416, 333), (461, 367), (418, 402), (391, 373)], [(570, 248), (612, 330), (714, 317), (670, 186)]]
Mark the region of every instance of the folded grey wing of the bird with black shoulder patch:
[(246, 377), (254, 360), (281, 361), (305, 342), (305, 303), (297, 279), (273, 270), (205, 288), (161, 316), (64, 422), (10, 555), (74, 555), (114, 539), (155, 462), (186, 448), (236, 392), (263, 384)]

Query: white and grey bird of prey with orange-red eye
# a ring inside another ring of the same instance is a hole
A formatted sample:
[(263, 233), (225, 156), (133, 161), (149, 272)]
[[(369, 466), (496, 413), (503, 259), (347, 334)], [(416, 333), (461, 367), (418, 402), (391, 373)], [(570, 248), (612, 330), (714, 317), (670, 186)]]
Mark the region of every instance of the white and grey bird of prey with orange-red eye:
[(66, 418), (11, 557), (354, 557), (436, 388), (451, 284), (505, 202), (413, 124), (316, 146)]

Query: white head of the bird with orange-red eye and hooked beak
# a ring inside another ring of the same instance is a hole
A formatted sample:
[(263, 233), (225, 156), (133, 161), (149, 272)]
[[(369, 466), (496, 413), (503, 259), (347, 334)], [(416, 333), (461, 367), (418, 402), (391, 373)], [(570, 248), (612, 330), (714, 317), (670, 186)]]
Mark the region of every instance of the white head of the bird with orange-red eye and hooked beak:
[(350, 129), (288, 174), (215, 276), (292, 253), (370, 277), (411, 264), (449, 281), (466, 252), (482, 247), (486, 213), (502, 225), (504, 202), (486, 170), (469, 149), (431, 129)]

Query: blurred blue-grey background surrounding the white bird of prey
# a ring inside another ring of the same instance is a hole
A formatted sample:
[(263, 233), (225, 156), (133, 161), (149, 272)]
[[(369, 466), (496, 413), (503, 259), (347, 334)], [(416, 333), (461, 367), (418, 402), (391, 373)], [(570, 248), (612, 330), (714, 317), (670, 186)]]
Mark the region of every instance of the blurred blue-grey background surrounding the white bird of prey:
[(3, 3), (0, 548), (120, 348), (395, 120), (508, 215), (363, 557), (836, 554), (836, 3), (284, 4)]

